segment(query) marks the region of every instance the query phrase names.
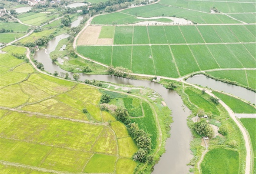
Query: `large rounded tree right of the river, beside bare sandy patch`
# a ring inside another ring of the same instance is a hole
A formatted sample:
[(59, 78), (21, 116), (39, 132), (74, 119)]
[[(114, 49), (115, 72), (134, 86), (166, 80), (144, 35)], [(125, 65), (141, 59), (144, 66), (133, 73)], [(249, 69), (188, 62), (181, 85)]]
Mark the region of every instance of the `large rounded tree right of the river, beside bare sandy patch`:
[(214, 132), (211, 126), (206, 122), (205, 119), (202, 119), (200, 122), (194, 123), (195, 131), (204, 136), (204, 137), (213, 137)]

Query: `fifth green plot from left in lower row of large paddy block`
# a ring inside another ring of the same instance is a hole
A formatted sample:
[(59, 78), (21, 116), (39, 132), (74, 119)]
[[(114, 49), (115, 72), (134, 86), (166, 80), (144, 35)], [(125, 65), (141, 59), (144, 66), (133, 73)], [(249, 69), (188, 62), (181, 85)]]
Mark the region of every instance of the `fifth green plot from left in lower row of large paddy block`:
[(173, 45), (171, 49), (181, 76), (200, 70), (187, 45)]

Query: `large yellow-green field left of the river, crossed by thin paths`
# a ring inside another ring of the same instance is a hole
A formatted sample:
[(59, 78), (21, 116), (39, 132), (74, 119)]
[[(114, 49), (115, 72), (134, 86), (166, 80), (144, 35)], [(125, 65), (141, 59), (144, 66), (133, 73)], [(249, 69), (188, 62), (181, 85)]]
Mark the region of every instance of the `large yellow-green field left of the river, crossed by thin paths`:
[(98, 88), (38, 73), (8, 53), (0, 62), (1, 174), (133, 174), (138, 147), (122, 123), (100, 110)]

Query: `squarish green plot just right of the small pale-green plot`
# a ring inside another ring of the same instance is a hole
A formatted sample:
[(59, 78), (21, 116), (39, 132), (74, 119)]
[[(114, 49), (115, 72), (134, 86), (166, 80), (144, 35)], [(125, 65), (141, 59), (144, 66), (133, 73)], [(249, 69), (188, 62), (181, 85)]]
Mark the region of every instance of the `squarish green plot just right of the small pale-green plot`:
[(115, 27), (114, 44), (131, 44), (133, 35), (133, 27), (119, 26)]

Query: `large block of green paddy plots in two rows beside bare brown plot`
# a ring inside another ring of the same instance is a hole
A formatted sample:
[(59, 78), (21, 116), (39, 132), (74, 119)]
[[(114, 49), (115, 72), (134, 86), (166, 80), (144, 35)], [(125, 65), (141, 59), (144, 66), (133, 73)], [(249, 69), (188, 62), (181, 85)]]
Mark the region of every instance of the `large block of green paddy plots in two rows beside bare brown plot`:
[[(134, 73), (182, 77), (200, 70), (255, 67), (255, 25), (103, 27), (109, 29), (101, 29), (100, 37), (113, 39), (112, 45), (80, 44), (77, 52)], [(105, 34), (106, 30), (110, 31), (109, 35)], [(243, 79), (241, 84), (252, 86), (253, 82), (249, 84)]]

